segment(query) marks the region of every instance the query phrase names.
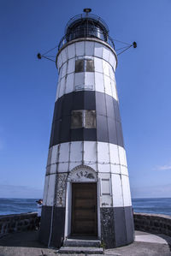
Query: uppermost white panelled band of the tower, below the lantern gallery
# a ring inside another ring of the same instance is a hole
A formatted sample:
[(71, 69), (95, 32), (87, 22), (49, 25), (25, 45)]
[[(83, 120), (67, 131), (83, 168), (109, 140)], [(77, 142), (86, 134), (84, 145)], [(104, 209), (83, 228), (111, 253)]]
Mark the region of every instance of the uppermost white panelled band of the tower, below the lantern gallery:
[[(75, 61), (82, 58), (94, 60), (95, 72), (74, 73)], [(117, 100), (115, 68), (112, 67), (114, 62), (116, 63), (114, 53), (103, 43), (85, 40), (64, 47), (57, 57), (59, 82), (56, 100), (78, 90), (105, 92)]]

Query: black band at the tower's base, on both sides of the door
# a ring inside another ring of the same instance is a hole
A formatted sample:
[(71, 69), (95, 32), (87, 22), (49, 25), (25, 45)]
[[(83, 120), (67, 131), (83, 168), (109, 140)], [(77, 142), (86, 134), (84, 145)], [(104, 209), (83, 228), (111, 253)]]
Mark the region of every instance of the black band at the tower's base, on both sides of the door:
[[(50, 230), (51, 211), (53, 225)], [(133, 242), (133, 208), (103, 207), (100, 208), (101, 235), (106, 248), (121, 247)], [(61, 247), (64, 238), (65, 207), (43, 206), (39, 240), (50, 247)], [(50, 237), (51, 231), (51, 237)], [(51, 238), (51, 239), (50, 239)]]

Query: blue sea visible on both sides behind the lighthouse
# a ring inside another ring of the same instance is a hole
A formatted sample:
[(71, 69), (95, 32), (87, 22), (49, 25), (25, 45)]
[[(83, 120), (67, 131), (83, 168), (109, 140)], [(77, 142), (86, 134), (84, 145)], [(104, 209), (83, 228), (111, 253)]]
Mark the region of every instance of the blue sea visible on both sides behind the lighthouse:
[[(38, 199), (0, 198), (0, 215), (37, 211)], [(132, 199), (134, 212), (160, 213), (171, 216), (171, 198)]]

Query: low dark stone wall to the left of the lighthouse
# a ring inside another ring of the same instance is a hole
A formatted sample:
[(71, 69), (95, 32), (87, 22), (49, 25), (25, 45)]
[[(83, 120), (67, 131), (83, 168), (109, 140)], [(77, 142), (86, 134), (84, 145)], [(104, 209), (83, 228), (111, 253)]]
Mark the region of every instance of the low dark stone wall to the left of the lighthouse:
[(37, 213), (21, 213), (0, 216), (0, 237), (17, 231), (35, 229)]

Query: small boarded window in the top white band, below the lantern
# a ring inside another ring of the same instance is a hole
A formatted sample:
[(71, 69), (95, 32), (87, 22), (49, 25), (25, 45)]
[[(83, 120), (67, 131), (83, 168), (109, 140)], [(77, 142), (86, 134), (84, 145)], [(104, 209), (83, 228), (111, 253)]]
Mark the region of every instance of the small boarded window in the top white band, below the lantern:
[(91, 59), (76, 60), (75, 72), (94, 72), (94, 61)]

